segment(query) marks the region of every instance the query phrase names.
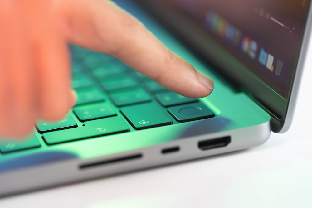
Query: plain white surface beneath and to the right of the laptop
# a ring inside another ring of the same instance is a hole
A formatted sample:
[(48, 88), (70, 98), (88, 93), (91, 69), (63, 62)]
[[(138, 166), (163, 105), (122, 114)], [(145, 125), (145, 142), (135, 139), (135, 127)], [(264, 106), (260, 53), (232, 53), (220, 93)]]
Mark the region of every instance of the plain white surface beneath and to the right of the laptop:
[(0, 207), (312, 207), (312, 47), (308, 57), (290, 130), (259, 147), (12, 196)]

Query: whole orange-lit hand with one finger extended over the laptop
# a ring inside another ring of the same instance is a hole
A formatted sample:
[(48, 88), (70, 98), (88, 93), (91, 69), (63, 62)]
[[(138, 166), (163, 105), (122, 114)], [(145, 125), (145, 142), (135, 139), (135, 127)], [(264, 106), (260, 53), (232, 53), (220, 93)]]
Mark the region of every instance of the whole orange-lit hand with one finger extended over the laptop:
[(74, 106), (68, 42), (113, 55), (187, 97), (213, 89), (209, 77), (107, 0), (0, 0), (0, 27), (0, 138), (25, 136), (36, 119), (61, 119)]

